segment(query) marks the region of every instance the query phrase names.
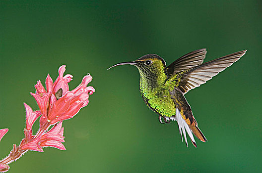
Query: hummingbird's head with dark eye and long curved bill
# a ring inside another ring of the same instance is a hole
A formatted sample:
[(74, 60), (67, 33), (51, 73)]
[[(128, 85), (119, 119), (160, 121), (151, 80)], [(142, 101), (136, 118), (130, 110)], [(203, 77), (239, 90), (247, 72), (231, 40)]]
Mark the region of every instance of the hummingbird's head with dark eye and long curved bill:
[[(157, 77), (160, 74), (166, 74), (166, 62), (156, 54), (146, 54), (135, 61), (118, 63), (112, 67), (125, 64), (134, 65), (138, 69), (140, 76), (147, 78)], [(112, 67), (108, 68), (108, 70)]]

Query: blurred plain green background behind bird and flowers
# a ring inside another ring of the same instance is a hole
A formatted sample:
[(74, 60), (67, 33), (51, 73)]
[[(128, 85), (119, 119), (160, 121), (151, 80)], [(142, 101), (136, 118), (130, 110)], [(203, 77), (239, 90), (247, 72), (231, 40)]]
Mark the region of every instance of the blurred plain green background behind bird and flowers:
[[(262, 1), (1, 0), (0, 157), (19, 144), (23, 102), (66, 64), (76, 87), (90, 73), (96, 92), (64, 122), (66, 151), (28, 152), (9, 173), (173, 173), (262, 171)], [(186, 94), (208, 142), (187, 148), (176, 122), (162, 125), (138, 90), (133, 66), (111, 65), (156, 53), (170, 64), (207, 48), (205, 62), (247, 54)], [(34, 127), (35, 131), (38, 129)]]

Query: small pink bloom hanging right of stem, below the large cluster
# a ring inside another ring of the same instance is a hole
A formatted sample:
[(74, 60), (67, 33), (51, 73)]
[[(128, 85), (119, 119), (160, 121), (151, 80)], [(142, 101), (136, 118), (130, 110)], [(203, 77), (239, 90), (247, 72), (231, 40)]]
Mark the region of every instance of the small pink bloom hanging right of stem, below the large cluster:
[(64, 140), (64, 128), (62, 128), (62, 121), (59, 124), (56, 124), (51, 130), (46, 132), (41, 137), (41, 144), (42, 147), (55, 147), (60, 150), (66, 150), (65, 146), (62, 142)]

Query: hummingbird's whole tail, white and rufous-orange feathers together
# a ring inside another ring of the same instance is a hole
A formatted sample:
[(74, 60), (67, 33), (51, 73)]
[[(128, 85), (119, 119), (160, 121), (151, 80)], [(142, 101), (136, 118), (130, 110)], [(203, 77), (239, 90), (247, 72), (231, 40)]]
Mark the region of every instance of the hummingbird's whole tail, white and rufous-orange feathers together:
[[(185, 117), (185, 115), (183, 115), (183, 116)], [(191, 142), (193, 143), (193, 145), (195, 147), (196, 147), (196, 141), (195, 141), (193, 133), (196, 135), (196, 137), (199, 140), (206, 142), (207, 140), (206, 140), (205, 136), (203, 135), (201, 130), (197, 127), (197, 123), (196, 123), (195, 118), (192, 116), (193, 119), (194, 119), (193, 120), (194, 124), (188, 125), (188, 123), (183, 119), (183, 116), (181, 115), (180, 110), (178, 108), (176, 108), (176, 119), (177, 119), (177, 123), (178, 123), (178, 127), (179, 127), (179, 133), (181, 134), (182, 141), (183, 141), (183, 136), (182, 136), (182, 132), (183, 132), (186, 144), (188, 146), (188, 140), (187, 140), (187, 135), (186, 135), (186, 131), (187, 131), (187, 133), (188, 133), (188, 135), (191, 139)]]

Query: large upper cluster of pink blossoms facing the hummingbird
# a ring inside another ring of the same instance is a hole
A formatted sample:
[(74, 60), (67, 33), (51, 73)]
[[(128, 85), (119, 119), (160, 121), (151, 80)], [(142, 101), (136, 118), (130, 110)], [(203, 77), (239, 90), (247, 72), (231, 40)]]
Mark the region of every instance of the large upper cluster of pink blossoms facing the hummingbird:
[(92, 76), (89, 74), (84, 76), (82, 83), (78, 87), (69, 91), (68, 83), (73, 76), (64, 76), (65, 71), (66, 65), (59, 68), (59, 76), (54, 84), (52, 78), (49, 75), (47, 76), (47, 91), (41, 82), (38, 81), (35, 85), (36, 93), (31, 93), (35, 97), (42, 113), (40, 126), (43, 128), (47, 124), (53, 125), (59, 121), (72, 118), (82, 107), (89, 103), (89, 95), (95, 91), (93, 87), (86, 87), (92, 81)]

